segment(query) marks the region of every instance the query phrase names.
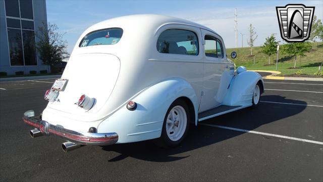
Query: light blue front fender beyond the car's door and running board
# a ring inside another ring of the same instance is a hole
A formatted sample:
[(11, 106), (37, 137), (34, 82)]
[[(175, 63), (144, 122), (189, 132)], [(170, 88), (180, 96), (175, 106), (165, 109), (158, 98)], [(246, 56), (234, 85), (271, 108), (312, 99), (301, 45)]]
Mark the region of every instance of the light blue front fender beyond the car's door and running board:
[(263, 80), (260, 74), (254, 71), (245, 71), (236, 75), (231, 81), (229, 90), (223, 101), (228, 106), (245, 106), (252, 104), (252, 94), (254, 86)]

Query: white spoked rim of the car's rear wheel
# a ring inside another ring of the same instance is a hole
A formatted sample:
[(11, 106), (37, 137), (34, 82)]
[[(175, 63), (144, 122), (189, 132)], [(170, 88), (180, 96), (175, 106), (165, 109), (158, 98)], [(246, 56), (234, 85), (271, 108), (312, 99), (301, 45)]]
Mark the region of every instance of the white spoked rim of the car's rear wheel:
[(185, 133), (187, 116), (182, 106), (175, 106), (171, 109), (166, 120), (166, 132), (171, 141), (179, 141)]

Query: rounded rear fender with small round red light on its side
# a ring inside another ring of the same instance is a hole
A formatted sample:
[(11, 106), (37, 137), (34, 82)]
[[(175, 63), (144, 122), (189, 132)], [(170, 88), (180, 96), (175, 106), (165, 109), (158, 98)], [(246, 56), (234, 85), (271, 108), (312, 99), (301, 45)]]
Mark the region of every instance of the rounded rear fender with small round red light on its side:
[(198, 99), (194, 89), (184, 79), (170, 78), (146, 88), (132, 98), (137, 103), (136, 110), (130, 111), (126, 105), (122, 106), (98, 125), (97, 132), (118, 133), (118, 143), (159, 138), (168, 108), (180, 97), (186, 97), (192, 102), (197, 120)]

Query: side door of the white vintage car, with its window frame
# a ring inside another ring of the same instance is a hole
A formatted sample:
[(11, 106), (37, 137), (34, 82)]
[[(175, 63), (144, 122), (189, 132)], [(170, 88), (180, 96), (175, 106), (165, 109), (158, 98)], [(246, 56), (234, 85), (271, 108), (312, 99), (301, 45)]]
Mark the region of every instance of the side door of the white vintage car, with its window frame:
[(201, 29), (203, 37), (203, 90), (199, 112), (221, 105), (233, 74), (227, 61), (223, 40), (217, 34)]

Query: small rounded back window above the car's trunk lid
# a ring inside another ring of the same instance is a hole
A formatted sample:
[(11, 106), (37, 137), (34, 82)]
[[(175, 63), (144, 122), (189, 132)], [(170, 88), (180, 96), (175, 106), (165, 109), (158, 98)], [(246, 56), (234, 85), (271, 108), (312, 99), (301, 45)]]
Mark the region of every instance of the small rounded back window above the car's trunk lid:
[(79, 47), (88, 47), (92, 45), (112, 45), (120, 41), (123, 34), (121, 28), (107, 28), (88, 33), (81, 40)]

